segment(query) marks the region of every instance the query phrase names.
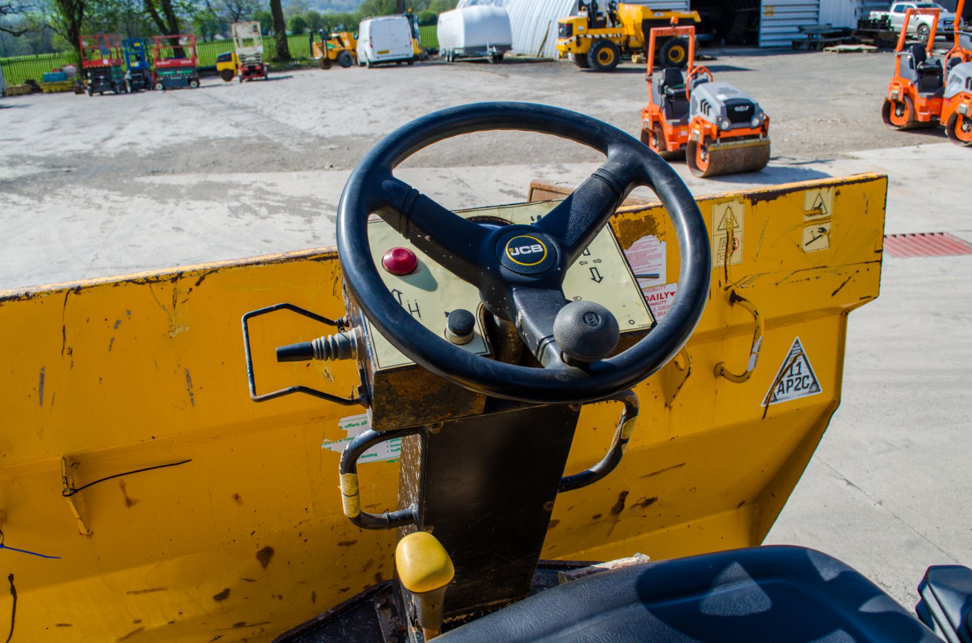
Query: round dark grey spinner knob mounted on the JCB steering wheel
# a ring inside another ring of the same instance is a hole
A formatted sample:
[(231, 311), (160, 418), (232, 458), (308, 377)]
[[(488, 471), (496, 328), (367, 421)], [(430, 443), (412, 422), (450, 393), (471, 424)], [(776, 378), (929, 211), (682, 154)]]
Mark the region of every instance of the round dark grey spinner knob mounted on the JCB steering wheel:
[(593, 301), (572, 301), (553, 321), (561, 352), (575, 361), (604, 359), (617, 346), (620, 328), (614, 315)]

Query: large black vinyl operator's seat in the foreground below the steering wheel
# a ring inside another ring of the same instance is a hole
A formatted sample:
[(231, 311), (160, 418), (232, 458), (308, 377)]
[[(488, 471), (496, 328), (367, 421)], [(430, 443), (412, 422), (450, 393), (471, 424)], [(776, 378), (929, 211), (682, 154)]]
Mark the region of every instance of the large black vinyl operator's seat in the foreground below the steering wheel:
[(784, 546), (602, 572), (539, 592), (437, 640), (941, 643), (840, 560)]

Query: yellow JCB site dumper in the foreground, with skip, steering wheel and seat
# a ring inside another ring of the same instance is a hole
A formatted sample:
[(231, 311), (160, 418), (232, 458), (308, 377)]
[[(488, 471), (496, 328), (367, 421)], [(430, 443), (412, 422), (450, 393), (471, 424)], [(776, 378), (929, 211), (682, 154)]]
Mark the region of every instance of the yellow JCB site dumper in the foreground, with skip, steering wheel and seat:
[[(512, 128), (607, 160), (458, 216), (393, 175)], [(661, 203), (617, 209), (649, 183)], [(12, 640), (810, 640), (780, 624), (851, 617), (847, 640), (935, 640), (840, 561), (755, 547), (840, 403), (885, 190), (693, 198), (606, 123), (475, 104), (364, 156), (336, 251), (2, 293)], [(776, 620), (735, 618), (752, 583)]]

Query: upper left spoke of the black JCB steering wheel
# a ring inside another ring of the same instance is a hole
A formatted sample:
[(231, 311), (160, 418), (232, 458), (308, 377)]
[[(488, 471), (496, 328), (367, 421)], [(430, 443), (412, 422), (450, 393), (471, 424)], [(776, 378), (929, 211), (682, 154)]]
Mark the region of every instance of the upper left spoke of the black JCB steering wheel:
[(434, 199), (388, 174), (380, 180), (381, 189), (374, 212), (416, 248), (443, 268), (476, 287), (482, 286), (489, 266), (485, 251), (488, 231), (439, 205)]

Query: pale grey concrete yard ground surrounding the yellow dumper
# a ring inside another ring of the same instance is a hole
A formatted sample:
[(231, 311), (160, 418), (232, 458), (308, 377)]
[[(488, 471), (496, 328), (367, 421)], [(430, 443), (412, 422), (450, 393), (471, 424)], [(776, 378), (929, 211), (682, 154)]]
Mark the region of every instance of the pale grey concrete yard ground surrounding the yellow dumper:
[[(940, 132), (891, 132), (889, 54), (719, 55), (719, 80), (772, 118), (759, 173), (696, 194), (854, 172), (890, 178), (887, 233), (972, 241), (972, 155)], [(296, 71), (197, 90), (0, 100), (0, 288), (330, 245), (341, 187), (395, 127), (477, 100), (527, 100), (633, 134), (643, 68), (427, 63)], [(522, 200), (530, 179), (575, 186), (599, 160), (576, 144), (481, 133), (418, 152), (399, 176), (456, 209)], [(972, 255), (885, 256), (881, 297), (851, 315), (844, 401), (767, 542), (816, 547), (906, 606), (925, 567), (972, 565), (968, 431)]]

